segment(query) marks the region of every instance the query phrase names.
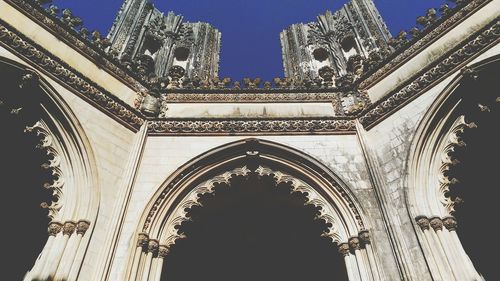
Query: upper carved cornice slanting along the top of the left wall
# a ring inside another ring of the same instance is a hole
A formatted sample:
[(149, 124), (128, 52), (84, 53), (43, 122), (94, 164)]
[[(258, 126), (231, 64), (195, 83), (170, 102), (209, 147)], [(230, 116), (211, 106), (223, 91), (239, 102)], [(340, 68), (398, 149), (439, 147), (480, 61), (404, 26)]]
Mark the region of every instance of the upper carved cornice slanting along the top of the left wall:
[(103, 50), (93, 46), (87, 40), (84, 40), (76, 31), (68, 28), (56, 18), (48, 15), (43, 8), (33, 5), (26, 0), (5, 0), (5, 2), (14, 6), (17, 10), (44, 27), (47, 31), (77, 50), (86, 58), (99, 64), (102, 69), (125, 83), (127, 86), (136, 91), (141, 91), (145, 88), (143, 85), (146, 83), (141, 81), (137, 75), (128, 71), (124, 66), (120, 65), (116, 59), (109, 56)]

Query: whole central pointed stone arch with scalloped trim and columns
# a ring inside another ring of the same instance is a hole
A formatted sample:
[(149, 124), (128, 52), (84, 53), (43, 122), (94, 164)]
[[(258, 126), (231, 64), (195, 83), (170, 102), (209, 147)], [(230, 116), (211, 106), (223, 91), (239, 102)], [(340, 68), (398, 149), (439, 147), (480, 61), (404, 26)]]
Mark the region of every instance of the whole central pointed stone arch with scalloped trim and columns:
[(319, 219), (330, 224), (324, 235), (343, 254), (349, 280), (380, 280), (370, 245), (369, 226), (348, 187), (319, 161), (284, 145), (245, 139), (212, 149), (174, 172), (157, 190), (141, 218), (131, 250), (127, 280), (160, 280), (163, 258), (177, 239), (177, 227), (188, 220), (201, 194), (217, 183), (249, 173), (289, 183), (306, 204), (321, 208)]

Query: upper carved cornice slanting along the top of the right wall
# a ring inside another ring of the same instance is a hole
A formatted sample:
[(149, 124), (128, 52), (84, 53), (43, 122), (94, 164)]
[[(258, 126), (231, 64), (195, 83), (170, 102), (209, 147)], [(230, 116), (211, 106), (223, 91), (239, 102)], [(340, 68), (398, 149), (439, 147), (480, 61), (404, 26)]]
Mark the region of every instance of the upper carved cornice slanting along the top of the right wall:
[(472, 15), (475, 11), (489, 2), (491, 2), (491, 0), (471, 0), (470, 3), (459, 9), (450, 17), (444, 19), (441, 24), (430, 29), (430, 31), (424, 36), (415, 40), (413, 44), (408, 47), (404, 47), (402, 52), (396, 52), (391, 55), (386, 62), (381, 63), (381, 65), (383, 65), (382, 67), (368, 72), (359, 83), (359, 88), (366, 89), (375, 84), (377, 81), (380, 81), (385, 76), (394, 72), (401, 64), (405, 63), (410, 58), (415, 56), (415, 54), (419, 53), (431, 43), (438, 40), (442, 34), (448, 32), (450, 29), (462, 22), (464, 18)]

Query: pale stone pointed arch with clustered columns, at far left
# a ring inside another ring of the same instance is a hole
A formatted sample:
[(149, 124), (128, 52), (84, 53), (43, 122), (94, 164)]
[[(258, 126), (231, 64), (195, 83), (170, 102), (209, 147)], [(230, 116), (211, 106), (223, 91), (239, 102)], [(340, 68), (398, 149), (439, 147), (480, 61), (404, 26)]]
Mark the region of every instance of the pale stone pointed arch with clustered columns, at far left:
[(21, 114), (36, 110), (25, 132), (40, 139), (37, 147), (47, 154), (43, 168), (53, 176), (39, 187), (52, 193), (53, 201), (43, 204), (49, 211), (48, 239), (24, 280), (76, 280), (99, 210), (92, 147), (78, 118), (37, 70), (5, 57), (0, 69), (18, 79), (20, 89), (3, 92), (4, 105), (15, 105)]

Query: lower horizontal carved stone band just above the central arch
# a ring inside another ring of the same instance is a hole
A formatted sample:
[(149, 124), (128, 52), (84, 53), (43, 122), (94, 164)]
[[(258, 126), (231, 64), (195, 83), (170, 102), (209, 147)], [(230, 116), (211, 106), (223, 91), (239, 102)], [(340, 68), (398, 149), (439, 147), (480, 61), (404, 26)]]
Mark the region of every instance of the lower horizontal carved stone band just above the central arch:
[(353, 134), (352, 119), (194, 119), (148, 124), (152, 135)]

